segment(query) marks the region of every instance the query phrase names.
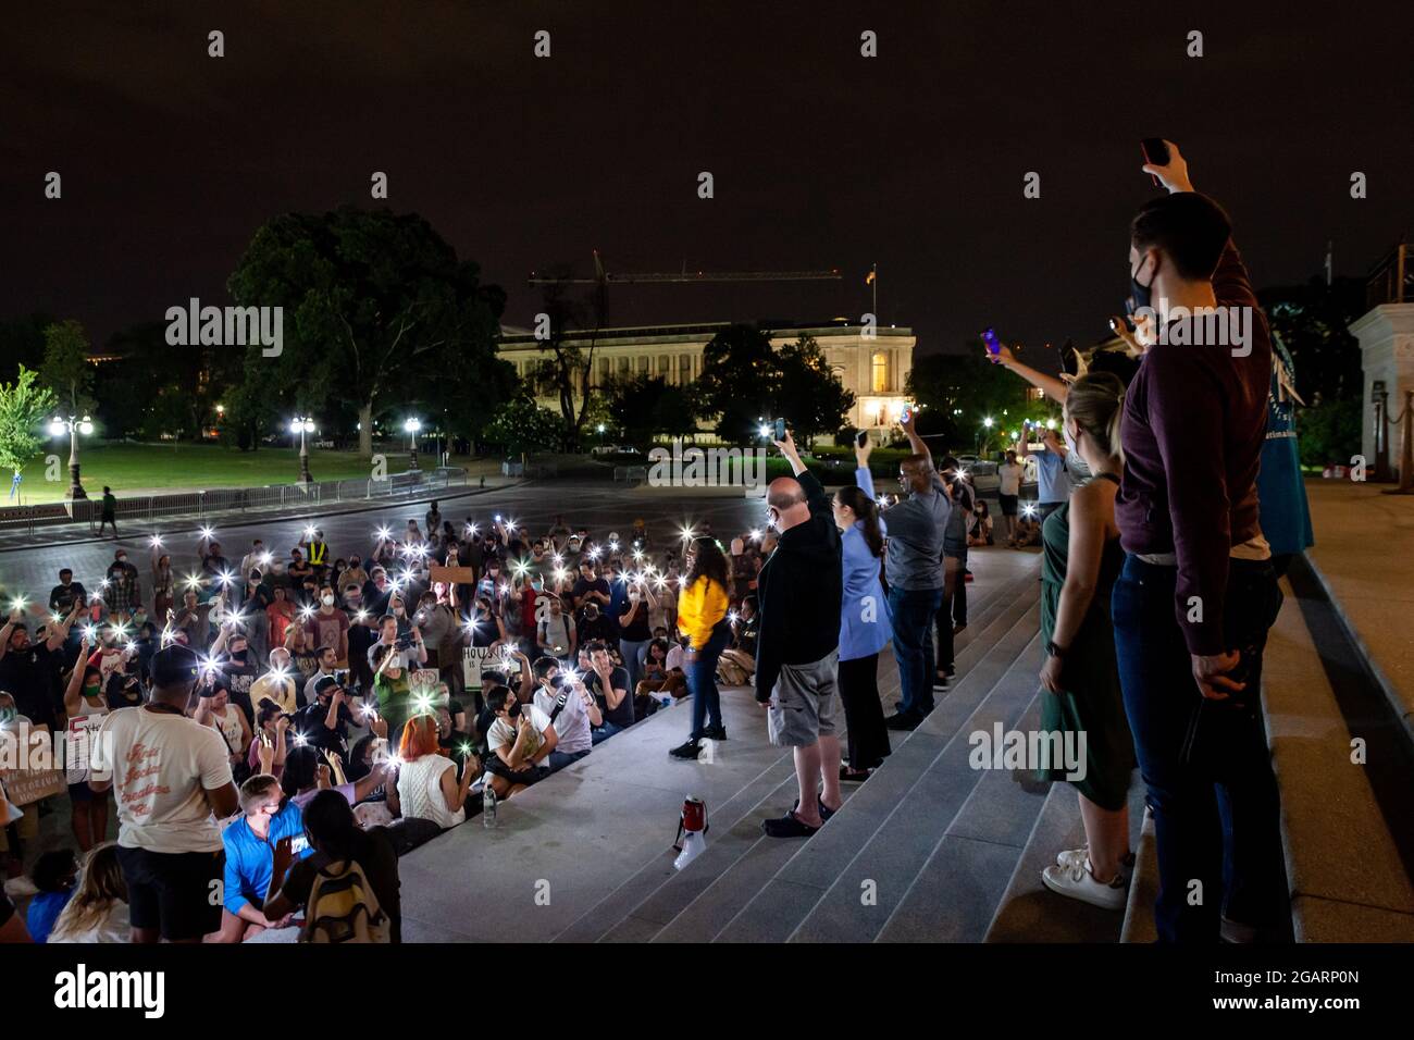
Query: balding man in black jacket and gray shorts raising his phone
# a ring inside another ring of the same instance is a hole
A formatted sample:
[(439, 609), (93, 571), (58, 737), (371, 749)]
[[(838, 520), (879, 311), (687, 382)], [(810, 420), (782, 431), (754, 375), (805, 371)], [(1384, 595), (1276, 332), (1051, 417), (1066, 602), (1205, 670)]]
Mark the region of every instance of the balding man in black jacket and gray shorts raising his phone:
[(795, 477), (781, 477), (766, 488), (766, 512), (781, 541), (758, 579), (755, 683), (756, 700), (769, 712), (771, 743), (795, 749), (800, 799), (762, 829), (771, 838), (809, 838), (840, 808), (840, 740), (834, 736), (840, 532), (829, 495), (805, 468), (790, 434), (776, 447)]

